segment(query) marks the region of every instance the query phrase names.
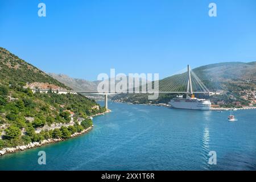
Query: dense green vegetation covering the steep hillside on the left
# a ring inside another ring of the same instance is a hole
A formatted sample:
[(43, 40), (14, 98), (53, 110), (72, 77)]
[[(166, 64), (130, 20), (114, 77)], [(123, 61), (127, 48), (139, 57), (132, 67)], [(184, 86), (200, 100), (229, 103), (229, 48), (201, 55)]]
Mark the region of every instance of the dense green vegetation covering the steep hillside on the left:
[[(24, 87), (27, 82), (67, 86), (3, 48), (0, 48), (0, 78), (0, 150), (49, 138), (67, 139), (92, 126), (90, 115), (105, 111), (80, 94), (33, 93)], [(71, 122), (71, 113), (73, 126), (35, 132), (39, 127)]]

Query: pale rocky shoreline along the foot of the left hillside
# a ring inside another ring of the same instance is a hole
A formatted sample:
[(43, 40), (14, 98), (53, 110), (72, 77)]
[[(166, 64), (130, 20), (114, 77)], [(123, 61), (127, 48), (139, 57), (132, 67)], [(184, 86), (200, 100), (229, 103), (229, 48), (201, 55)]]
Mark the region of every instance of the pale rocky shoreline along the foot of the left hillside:
[[(95, 117), (97, 115), (102, 115), (102, 114), (109, 113), (109, 112), (110, 112), (110, 110), (107, 110), (104, 113), (95, 114), (95, 115), (92, 115), (90, 117)], [(70, 138), (77, 137), (79, 135), (87, 133), (88, 131), (92, 130), (92, 128), (93, 128), (93, 125), (88, 127), (88, 129), (82, 130), (80, 133), (72, 134)], [(28, 143), (27, 145), (24, 145), (24, 146), (16, 146), (16, 147), (10, 147), (10, 148), (6, 147), (6, 148), (3, 148), (2, 150), (0, 150), (0, 156), (5, 155), (5, 154), (11, 154), (11, 153), (18, 152), (18, 151), (27, 150), (27, 149), (30, 149), (30, 148), (44, 146), (44, 145), (49, 144), (49, 143), (57, 143), (57, 142), (61, 142), (61, 141), (64, 141), (64, 140), (66, 140), (66, 139), (50, 138), (50, 139), (44, 139), (40, 142), (30, 142), (30, 143)]]

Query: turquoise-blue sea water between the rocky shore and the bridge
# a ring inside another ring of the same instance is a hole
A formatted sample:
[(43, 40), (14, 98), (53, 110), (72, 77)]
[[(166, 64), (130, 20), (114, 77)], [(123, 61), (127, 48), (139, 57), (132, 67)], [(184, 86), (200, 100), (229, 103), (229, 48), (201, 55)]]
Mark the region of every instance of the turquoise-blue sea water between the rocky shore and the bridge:
[[(110, 102), (88, 134), (0, 157), (0, 170), (255, 170), (256, 110), (169, 109)], [(38, 152), (46, 152), (46, 165)], [(208, 164), (216, 151), (217, 164)]]

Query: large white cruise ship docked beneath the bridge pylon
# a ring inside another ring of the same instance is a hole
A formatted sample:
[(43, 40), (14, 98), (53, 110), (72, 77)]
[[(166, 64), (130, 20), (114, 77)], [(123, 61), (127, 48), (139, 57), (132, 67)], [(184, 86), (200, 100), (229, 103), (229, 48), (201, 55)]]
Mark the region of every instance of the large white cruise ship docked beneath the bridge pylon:
[(182, 98), (179, 96), (170, 101), (170, 105), (179, 109), (196, 109), (196, 110), (210, 110), (210, 101), (205, 99), (192, 97)]

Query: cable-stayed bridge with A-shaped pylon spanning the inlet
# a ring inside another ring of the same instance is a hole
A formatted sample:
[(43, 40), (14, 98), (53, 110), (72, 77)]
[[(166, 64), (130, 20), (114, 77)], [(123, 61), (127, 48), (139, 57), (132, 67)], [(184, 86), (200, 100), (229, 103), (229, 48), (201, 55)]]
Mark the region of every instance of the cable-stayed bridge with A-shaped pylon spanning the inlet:
[[(61, 89), (51, 89), (52, 93), (59, 94), (67, 94), (67, 93), (83, 93), (83, 94), (100, 94), (105, 96), (105, 107), (108, 109), (108, 95), (109, 94), (120, 94), (120, 93), (177, 93), (177, 94), (186, 94), (188, 98), (189, 95), (200, 93), (200, 94), (209, 94), (210, 91), (205, 86), (205, 84), (200, 80), (200, 78), (191, 70), (189, 65), (186, 68), (185, 72), (181, 72), (179, 74), (164, 78), (163, 80), (158, 81), (158, 89), (155, 89), (155, 81), (151, 82), (151, 86), (148, 86), (148, 82), (146, 83), (146, 91), (144, 92), (135, 92), (135, 88), (133, 88), (133, 92), (127, 92), (127, 89), (122, 90), (121, 92), (111, 92), (104, 91), (99, 92), (98, 90), (61, 90)], [(140, 85), (141, 88), (143, 85)], [(154, 89), (152, 89), (154, 87)], [(32, 89), (33, 92), (40, 93), (48, 93), (50, 89)]]

